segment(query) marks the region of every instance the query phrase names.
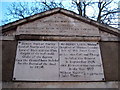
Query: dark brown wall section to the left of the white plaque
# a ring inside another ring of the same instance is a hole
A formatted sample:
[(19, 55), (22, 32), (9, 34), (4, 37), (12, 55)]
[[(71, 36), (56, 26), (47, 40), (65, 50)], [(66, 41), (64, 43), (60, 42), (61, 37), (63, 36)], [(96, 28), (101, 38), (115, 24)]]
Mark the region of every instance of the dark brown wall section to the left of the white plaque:
[(16, 54), (16, 41), (2, 41), (2, 80), (11, 81)]

